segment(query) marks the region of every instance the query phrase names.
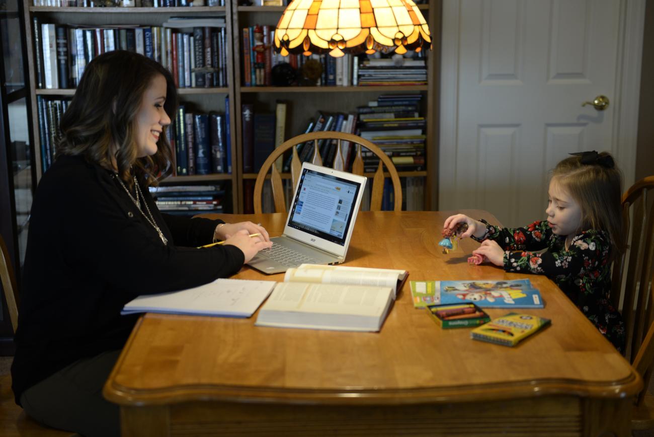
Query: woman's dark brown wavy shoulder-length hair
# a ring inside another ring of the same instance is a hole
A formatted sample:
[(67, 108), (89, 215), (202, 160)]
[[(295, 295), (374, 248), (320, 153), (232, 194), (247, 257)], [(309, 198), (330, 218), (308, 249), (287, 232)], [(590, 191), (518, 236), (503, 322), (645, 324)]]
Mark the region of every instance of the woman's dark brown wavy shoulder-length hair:
[(73, 101), (61, 117), (57, 155), (83, 155), (86, 160), (111, 169), (112, 150), (115, 150), (113, 158), (118, 175), (129, 186), (133, 184), (132, 167), (137, 174), (147, 176), (148, 184), (156, 184), (159, 173), (169, 175), (171, 149), (167, 126), (159, 137), (156, 153), (137, 158), (135, 119), (143, 94), (156, 75), (165, 78), (163, 109), (171, 120), (175, 120), (175, 82), (160, 63), (125, 50), (95, 57), (86, 65)]

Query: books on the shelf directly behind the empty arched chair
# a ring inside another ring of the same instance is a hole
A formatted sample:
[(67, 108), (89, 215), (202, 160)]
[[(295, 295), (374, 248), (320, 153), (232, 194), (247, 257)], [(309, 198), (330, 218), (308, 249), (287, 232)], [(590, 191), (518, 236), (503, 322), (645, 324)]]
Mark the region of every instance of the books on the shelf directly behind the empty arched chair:
[[(339, 131), (354, 133), (380, 147), (398, 171), (421, 171), (425, 163), (425, 120), (420, 116), (421, 94), (386, 94), (356, 113), (324, 113), (319, 111), (309, 119), (303, 133)], [(241, 105), (243, 126), (243, 171), (258, 173), (267, 156), (283, 143), (286, 137), (286, 105), (277, 102), (275, 114), (258, 113), (251, 103)], [(300, 162), (310, 161), (314, 154), (311, 141), (296, 146)], [(325, 166), (332, 166), (336, 157), (336, 140), (318, 141), (318, 152)], [(356, 149), (349, 141), (341, 143), (345, 168), (351, 169)], [(370, 150), (362, 150), (364, 171), (376, 171), (379, 158)], [(289, 171), (292, 154), (280, 160), (279, 170)]]

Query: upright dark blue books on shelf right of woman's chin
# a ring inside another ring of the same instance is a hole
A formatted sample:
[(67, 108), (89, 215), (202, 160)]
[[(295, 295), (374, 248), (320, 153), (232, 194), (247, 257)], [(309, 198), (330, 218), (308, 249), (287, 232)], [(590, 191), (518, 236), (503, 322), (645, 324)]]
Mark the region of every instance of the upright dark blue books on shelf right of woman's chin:
[(174, 150), (173, 175), (232, 173), (232, 148), (224, 114), (197, 113), (179, 105), (170, 143)]

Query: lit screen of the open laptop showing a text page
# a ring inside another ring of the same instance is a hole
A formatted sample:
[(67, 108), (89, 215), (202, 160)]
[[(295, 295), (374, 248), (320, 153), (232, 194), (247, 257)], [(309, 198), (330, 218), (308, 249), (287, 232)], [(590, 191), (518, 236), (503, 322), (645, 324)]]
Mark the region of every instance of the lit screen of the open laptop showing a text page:
[(302, 169), (288, 226), (345, 245), (361, 184)]

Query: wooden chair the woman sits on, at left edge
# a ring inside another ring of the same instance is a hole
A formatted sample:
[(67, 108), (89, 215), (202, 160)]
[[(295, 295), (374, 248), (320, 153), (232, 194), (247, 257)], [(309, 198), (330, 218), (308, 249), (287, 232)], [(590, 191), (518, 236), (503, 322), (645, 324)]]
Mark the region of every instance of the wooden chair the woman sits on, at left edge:
[[(16, 277), (11, 266), (9, 251), (5, 240), (0, 236), (0, 280), (5, 298), (11, 326), (16, 332), (18, 326), (18, 305), (16, 304), (18, 288)], [(44, 427), (31, 419), (22, 408), (14, 402), (14, 392), (11, 390), (11, 375), (0, 376), (0, 434), (3, 436), (20, 437), (72, 437), (79, 434)]]

